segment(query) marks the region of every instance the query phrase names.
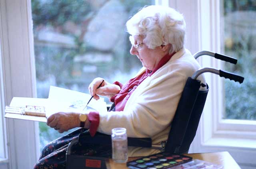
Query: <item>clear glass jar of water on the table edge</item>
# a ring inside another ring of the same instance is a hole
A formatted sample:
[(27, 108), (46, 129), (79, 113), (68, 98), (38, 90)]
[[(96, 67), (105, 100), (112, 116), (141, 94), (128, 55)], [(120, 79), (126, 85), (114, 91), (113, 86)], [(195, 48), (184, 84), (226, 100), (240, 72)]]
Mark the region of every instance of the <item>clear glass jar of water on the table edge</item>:
[(126, 163), (128, 160), (128, 143), (125, 128), (112, 129), (112, 159), (116, 163)]

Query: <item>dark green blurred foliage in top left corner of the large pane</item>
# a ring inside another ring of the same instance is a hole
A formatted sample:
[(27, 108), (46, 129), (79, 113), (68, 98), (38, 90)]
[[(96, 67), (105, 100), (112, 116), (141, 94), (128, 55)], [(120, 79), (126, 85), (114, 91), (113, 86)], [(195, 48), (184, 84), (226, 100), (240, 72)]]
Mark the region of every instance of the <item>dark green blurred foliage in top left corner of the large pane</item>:
[(70, 20), (80, 24), (82, 19), (91, 11), (87, 0), (32, 0), (32, 18), (34, 26), (62, 26)]

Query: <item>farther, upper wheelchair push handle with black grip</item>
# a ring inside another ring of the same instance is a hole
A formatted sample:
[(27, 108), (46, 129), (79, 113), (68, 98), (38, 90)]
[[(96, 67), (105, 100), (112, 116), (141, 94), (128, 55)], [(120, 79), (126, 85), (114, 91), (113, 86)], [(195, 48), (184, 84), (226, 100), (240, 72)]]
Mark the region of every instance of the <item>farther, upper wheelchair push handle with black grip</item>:
[(222, 61), (226, 61), (226, 62), (233, 63), (233, 64), (237, 63), (236, 58), (229, 57), (229, 56), (226, 56), (226, 55), (222, 55), (222, 54), (219, 54), (219, 53), (213, 53), (213, 52), (210, 52), (210, 51), (199, 51), (199, 52), (194, 54), (194, 58), (197, 59), (198, 57), (200, 57), (202, 55), (208, 55), (208, 56), (211, 56), (211, 57), (215, 57), (216, 59), (220, 59)]

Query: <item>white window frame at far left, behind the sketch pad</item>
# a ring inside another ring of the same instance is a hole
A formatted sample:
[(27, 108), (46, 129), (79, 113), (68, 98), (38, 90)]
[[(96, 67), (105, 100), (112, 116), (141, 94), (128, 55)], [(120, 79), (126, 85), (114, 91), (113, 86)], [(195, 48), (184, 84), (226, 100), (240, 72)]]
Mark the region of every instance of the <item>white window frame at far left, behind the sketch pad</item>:
[[(36, 97), (36, 75), (30, 1), (0, 0), (1, 116), (12, 97)], [(33, 168), (39, 158), (38, 123), (4, 119), (8, 168)]]

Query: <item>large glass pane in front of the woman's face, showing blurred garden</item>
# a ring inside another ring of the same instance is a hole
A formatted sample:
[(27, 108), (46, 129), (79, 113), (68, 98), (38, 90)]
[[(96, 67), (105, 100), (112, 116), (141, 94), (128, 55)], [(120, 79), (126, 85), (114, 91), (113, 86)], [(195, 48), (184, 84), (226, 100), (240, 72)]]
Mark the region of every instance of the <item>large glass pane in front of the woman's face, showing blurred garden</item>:
[[(153, 2), (32, 0), (38, 98), (48, 98), (50, 85), (88, 93), (95, 77), (130, 79), (142, 65), (130, 55), (125, 23)], [(39, 126), (42, 146), (63, 135), (45, 123)]]

